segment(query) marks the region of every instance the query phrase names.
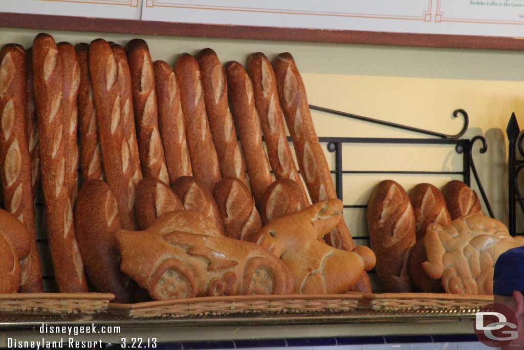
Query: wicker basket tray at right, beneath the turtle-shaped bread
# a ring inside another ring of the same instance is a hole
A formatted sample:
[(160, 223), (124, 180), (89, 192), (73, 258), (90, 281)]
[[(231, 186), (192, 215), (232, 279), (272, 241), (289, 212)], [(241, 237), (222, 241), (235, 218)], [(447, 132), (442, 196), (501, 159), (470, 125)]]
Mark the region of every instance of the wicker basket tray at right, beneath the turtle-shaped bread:
[(449, 310), (474, 312), (493, 303), (493, 295), (460, 295), (443, 293), (363, 294), (359, 309), (375, 311)]

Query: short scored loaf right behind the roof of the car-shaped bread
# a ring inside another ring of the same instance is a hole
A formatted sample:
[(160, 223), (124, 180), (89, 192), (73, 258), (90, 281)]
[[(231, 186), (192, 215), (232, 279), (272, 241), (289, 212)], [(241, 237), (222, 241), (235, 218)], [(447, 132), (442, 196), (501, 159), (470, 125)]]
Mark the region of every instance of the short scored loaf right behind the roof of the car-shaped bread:
[(185, 210), (200, 211), (213, 219), (217, 230), (224, 232), (224, 224), (213, 195), (196, 178), (181, 176), (173, 181), (171, 188), (182, 201)]

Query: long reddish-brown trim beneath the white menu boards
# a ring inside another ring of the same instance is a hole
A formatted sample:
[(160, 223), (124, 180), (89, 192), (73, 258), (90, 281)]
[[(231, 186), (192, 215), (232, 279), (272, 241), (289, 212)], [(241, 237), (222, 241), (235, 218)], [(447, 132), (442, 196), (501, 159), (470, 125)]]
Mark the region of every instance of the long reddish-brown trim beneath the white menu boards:
[(506, 37), (385, 33), (358, 30), (322, 30), (153, 22), (146, 20), (31, 15), (0, 12), (0, 27), (97, 31), (142, 35), (209, 38), (314, 41), (470, 49), (523, 50), (524, 40)]

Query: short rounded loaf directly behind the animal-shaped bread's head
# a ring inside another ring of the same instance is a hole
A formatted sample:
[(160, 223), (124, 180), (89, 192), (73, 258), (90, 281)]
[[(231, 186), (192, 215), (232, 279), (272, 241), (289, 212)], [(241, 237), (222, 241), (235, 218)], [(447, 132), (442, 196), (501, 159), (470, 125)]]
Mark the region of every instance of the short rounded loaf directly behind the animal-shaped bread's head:
[(264, 193), (262, 203), (260, 216), (266, 224), (307, 207), (300, 186), (287, 178), (272, 183)]

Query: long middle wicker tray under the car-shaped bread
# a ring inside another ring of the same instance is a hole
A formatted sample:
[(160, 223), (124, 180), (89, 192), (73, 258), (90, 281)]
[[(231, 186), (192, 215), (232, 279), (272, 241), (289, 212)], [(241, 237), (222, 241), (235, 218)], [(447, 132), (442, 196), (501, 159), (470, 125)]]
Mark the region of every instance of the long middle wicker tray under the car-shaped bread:
[(110, 303), (107, 312), (131, 317), (189, 317), (237, 313), (348, 312), (361, 294), (211, 296), (137, 304)]

